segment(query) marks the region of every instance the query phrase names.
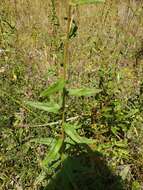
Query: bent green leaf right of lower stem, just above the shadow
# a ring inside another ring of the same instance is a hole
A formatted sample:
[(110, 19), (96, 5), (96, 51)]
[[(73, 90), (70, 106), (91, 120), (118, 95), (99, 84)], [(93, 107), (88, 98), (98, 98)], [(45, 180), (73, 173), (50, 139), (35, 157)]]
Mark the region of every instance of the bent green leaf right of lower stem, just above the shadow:
[(65, 129), (65, 133), (76, 143), (80, 143), (80, 144), (93, 144), (95, 143), (95, 141), (93, 139), (88, 139), (86, 137), (81, 137), (76, 129), (74, 125), (71, 124), (65, 124), (64, 125), (64, 129)]

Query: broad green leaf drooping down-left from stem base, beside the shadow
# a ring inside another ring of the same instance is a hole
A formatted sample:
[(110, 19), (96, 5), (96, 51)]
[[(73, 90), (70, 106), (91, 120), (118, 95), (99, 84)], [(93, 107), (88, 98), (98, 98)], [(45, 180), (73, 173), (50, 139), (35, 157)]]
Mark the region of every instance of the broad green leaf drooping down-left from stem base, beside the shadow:
[(45, 159), (42, 161), (42, 165), (44, 167), (47, 167), (49, 164), (51, 164), (53, 161), (56, 160), (62, 144), (63, 144), (63, 139), (61, 138), (59, 138), (57, 141), (53, 143), (53, 146), (51, 146), (48, 154), (46, 155)]

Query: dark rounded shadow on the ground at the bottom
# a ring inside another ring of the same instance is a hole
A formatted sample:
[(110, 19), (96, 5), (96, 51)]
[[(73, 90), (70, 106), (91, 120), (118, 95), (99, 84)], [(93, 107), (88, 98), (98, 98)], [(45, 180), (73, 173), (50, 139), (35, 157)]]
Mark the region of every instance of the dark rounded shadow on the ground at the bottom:
[(99, 152), (84, 147), (72, 153), (44, 190), (123, 190), (120, 176), (111, 172)]

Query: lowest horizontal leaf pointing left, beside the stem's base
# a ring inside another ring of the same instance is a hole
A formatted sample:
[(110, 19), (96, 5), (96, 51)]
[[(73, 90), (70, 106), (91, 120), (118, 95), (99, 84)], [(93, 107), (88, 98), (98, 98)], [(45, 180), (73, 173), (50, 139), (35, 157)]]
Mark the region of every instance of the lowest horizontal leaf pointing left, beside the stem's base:
[(34, 138), (34, 139), (31, 139), (30, 142), (49, 146), (52, 142), (55, 142), (55, 139), (50, 138), (50, 137), (49, 138)]

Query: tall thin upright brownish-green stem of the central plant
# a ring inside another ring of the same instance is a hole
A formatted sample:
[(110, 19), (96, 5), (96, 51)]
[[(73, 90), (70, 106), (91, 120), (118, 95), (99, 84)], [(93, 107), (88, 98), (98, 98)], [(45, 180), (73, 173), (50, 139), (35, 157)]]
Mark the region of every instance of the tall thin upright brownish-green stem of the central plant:
[[(71, 5), (68, 5), (68, 22), (67, 22), (67, 31), (66, 31), (66, 40), (64, 46), (64, 63), (63, 63), (63, 79), (66, 81), (67, 79), (67, 66), (68, 66), (68, 58), (69, 58), (69, 32), (70, 32), (70, 24), (71, 24)], [(63, 89), (63, 102), (62, 102), (62, 124), (61, 124), (61, 132), (62, 138), (65, 138), (64, 132), (64, 123), (65, 123), (65, 105), (66, 105), (66, 87)]]

